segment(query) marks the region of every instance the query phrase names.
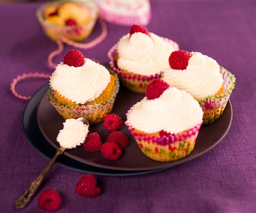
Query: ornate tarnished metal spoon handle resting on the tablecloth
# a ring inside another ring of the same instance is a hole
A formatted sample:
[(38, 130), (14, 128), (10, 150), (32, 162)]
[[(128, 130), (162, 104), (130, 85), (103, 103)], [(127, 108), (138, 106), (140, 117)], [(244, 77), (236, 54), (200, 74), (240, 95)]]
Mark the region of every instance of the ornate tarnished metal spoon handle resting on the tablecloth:
[(14, 204), (16, 208), (24, 208), (29, 203), (31, 197), (34, 195), (39, 185), (42, 183), (42, 180), (44, 179), (45, 175), (47, 174), (47, 172), (49, 171), (57, 157), (60, 154), (62, 154), (64, 150), (65, 148), (61, 146), (51, 159), (50, 163), (45, 167), (42, 173), (30, 184), (25, 193), (15, 200)]

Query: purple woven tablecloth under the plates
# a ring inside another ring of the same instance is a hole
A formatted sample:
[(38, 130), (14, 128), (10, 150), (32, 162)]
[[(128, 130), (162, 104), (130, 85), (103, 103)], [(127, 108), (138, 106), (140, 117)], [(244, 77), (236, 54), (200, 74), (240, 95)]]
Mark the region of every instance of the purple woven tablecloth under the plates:
[[(36, 19), (40, 4), (0, 5), (0, 212), (44, 212), (37, 199), (47, 188), (60, 193), (59, 212), (256, 212), (256, 3), (196, 0), (153, 1), (153, 19), (147, 27), (177, 41), (181, 49), (216, 59), (235, 74), (233, 120), (225, 138), (206, 154), (164, 171), (127, 177), (96, 175), (103, 192), (95, 198), (75, 194), (75, 183), (83, 173), (55, 164), (30, 204), (16, 210), (15, 198), (49, 162), (24, 136), (22, 112), (27, 101), (9, 90), (18, 74), (52, 72), (47, 56), (56, 44), (46, 38)], [(108, 30), (102, 44), (82, 51), (85, 57), (106, 62), (108, 49), (129, 27), (108, 24)], [(97, 24), (91, 38), (99, 33)], [(64, 52), (70, 49), (66, 46)], [(31, 95), (45, 83), (26, 80), (17, 90)]]

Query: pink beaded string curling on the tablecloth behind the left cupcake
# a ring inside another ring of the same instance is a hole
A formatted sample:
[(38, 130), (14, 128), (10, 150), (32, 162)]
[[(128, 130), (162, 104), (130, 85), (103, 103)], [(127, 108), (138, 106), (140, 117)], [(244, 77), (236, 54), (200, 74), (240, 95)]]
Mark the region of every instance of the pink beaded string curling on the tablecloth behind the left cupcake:
[[(67, 45), (69, 46), (73, 46), (75, 48), (80, 48), (80, 49), (84, 49), (84, 50), (88, 50), (88, 49), (92, 49), (94, 48), (95, 46), (97, 46), (98, 44), (100, 44), (107, 36), (107, 25), (106, 23), (102, 20), (102, 19), (99, 19), (99, 23), (101, 25), (101, 28), (102, 28), (102, 32), (101, 34), (93, 39), (91, 42), (88, 42), (86, 44), (84, 43), (77, 43), (77, 42), (74, 42), (74, 41), (71, 41), (69, 39), (66, 39), (64, 38), (63, 36), (59, 36), (56, 40), (56, 43), (58, 45), (58, 49), (57, 50), (54, 50), (52, 51), (49, 56), (48, 56), (48, 64), (51, 68), (55, 68), (57, 66), (57, 64), (53, 63), (52, 62), (52, 59), (56, 56), (56, 55), (59, 55), (63, 52), (63, 49), (64, 49), (64, 46), (63, 46), (63, 43), (66, 43)], [(97, 61), (94, 59), (94, 61)], [(37, 78), (46, 78), (46, 79), (49, 79), (50, 78), (50, 75), (48, 74), (44, 74), (44, 73), (38, 73), (38, 72), (35, 72), (35, 73), (23, 73), (22, 75), (18, 75), (16, 78), (14, 78), (10, 84), (10, 90), (12, 91), (12, 94), (19, 98), (19, 99), (23, 99), (23, 100), (29, 100), (31, 98), (31, 96), (22, 96), (20, 94), (18, 94), (15, 90), (15, 86), (16, 84), (23, 80), (23, 79), (26, 79), (26, 78), (32, 78), (32, 77), (37, 77)]]

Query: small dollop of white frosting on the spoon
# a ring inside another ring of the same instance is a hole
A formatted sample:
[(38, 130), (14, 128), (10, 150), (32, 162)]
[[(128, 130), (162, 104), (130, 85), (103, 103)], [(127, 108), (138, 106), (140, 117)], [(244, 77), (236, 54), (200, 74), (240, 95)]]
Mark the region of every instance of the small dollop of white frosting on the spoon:
[(63, 125), (63, 129), (59, 131), (57, 136), (60, 146), (72, 149), (84, 142), (88, 134), (89, 125), (73, 118), (67, 119)]

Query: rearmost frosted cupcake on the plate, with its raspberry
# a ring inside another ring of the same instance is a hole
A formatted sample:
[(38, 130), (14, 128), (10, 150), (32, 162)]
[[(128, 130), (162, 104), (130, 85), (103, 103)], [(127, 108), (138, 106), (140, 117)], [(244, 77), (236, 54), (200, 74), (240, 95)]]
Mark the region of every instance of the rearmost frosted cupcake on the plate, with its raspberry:
[(109, 50), (109, 64), (128, 89), (144, 93), (146, 86), (169, 66), (170, 54), (178, 49), (174, 41), (133, 25), (130, 33)]

